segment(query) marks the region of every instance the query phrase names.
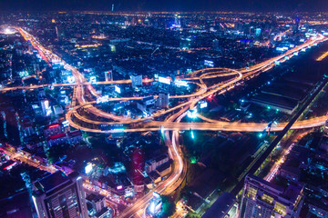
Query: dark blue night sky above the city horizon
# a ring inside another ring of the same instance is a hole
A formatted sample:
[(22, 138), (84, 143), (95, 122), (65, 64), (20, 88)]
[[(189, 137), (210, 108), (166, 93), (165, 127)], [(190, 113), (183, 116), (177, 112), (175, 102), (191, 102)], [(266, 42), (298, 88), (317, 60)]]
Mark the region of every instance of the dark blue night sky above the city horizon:
[(251, 11), (328, 10), (328, 0), (0, 0), (1, 11)]

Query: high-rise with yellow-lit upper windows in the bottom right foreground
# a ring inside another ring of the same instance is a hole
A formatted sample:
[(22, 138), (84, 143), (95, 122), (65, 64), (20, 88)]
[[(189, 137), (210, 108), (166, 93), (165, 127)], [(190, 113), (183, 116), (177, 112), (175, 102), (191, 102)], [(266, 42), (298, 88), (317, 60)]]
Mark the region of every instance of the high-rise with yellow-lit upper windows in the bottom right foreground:
[(255, 175), (246, 176), (240, 217), (297, 218), (303, 203), (303, 186), (299, 183), (282, 188)]

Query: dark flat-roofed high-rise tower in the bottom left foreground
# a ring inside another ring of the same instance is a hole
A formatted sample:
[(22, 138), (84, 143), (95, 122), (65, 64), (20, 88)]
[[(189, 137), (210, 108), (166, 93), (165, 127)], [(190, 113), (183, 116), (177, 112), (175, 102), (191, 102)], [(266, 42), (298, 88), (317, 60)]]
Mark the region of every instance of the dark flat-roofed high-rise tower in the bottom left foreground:
[(86, 218), (86, 193), (77, 173), (52, 173), (34, 183), (32, 195), (39, 218)]

